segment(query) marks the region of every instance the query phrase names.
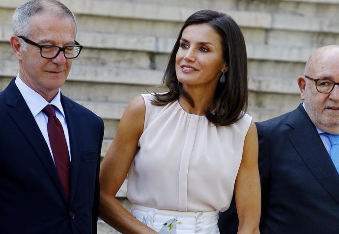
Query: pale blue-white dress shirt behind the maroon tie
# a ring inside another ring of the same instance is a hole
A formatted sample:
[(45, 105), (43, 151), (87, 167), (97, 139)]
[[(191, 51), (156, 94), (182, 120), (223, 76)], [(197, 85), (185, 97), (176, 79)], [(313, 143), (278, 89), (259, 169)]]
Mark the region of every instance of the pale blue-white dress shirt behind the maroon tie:
[(60, 101), (60, 88), (57, 92), (57, 96), (51, 101), (51, 103), (48, 103), (40, 94), (38, 94), (33, 89), (28, 87), (21, 80), (19, 74), (17, 78), (15, 79), (15, 84), (17, 85), (21, 95), (24, 97), (24, 100), (26, 104), (28, 105), (30, 112), (32, 113), (37, 125), (39, 126), (39, 129), (42, 135), (44, 136), (46, 140), (46, 143), (48, 145), (48, 148), (50, 149), (53, 161), (54, 161), (54, 156), (53, 156), (50, 140), (48, 137), (48, 131), (47, 131), (48, 116), (44, 112), (42, 112), (42, 109), (48, 104), (53, 104), (54, 106), (57, 107), (56, 115), (62, 125), (63, 132), (66, 138), (67, 147), (68, 147), (69, 157), (71, 159), (67, 123), (65, 119), (65, 113), (63, 112), (63, 108), (62, 108), (61, 101)]

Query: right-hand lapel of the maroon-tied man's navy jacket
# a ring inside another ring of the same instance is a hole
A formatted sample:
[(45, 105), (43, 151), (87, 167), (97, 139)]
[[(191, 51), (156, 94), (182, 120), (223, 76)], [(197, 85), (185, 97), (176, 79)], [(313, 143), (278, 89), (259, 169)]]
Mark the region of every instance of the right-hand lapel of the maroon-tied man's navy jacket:
[(62, 94), (61, 104), (65, 112), (71, 148), (70, 203), (72, 203), (77, 187), (78, 172), (81, 160), (82, 131), (79, 124), (79, 119), (81, 118), (81, 116), (79, 116), (79, 113), (76, 111), (75, 108), (73, 108), (74, 105)]

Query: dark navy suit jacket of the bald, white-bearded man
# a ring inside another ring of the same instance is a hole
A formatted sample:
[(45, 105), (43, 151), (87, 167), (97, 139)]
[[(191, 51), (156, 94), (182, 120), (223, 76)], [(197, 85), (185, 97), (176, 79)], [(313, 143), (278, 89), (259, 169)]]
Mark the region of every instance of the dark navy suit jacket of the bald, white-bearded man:
[[(256, 128), (261, 234), (339, 234), (339, 174), (302, 104)], [(219, 217), (236, 234), (234, 201)]]

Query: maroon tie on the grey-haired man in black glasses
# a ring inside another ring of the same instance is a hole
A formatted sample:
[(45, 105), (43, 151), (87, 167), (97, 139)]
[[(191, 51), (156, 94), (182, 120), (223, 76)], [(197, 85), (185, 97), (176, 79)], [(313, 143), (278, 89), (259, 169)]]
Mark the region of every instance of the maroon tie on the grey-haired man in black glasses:
[(48, 137), (54, 156), (63, 189), (65, 190), (67, 200), (69, 200), (69, 175), (71, 171), (71, 162), (66, 143), (65, 134), (62, 125), (56, 116), (54, 105), (46, 105), (42, 111), (48, 116), (47, 130)]

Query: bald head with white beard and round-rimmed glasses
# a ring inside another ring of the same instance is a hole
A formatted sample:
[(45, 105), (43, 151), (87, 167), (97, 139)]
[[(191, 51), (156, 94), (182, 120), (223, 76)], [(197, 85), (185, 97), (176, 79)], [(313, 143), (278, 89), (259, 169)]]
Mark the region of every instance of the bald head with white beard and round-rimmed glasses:
[(333, 82), (339, 83), (337, 45), (321, 47), (311, 54), (298, 85), (313, 124), (325, 132), (339, 134), (339, 85), (333, 86)]

